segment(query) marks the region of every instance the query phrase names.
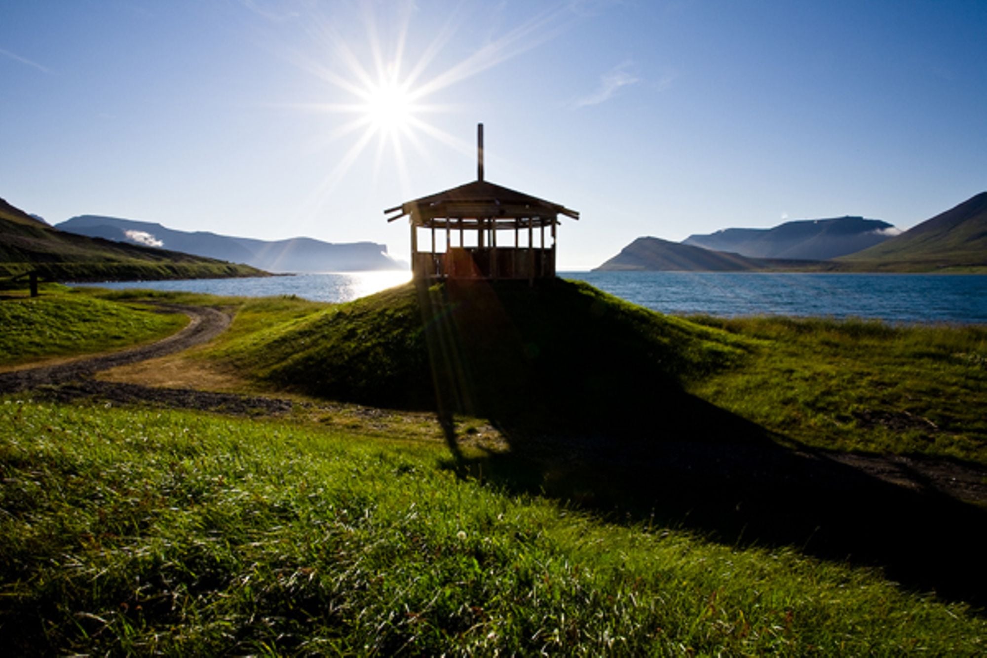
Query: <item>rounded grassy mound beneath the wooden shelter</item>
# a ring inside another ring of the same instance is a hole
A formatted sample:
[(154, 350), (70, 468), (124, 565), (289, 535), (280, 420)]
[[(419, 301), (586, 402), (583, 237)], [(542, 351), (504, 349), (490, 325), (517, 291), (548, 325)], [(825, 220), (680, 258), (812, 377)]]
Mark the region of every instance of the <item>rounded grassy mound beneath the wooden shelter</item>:
[(745, 345), (557, 280), (392, 288), (269, 327), (217, 357), (317, 396), (503, 417), (587, 404), (640, 410), (740, 359)]

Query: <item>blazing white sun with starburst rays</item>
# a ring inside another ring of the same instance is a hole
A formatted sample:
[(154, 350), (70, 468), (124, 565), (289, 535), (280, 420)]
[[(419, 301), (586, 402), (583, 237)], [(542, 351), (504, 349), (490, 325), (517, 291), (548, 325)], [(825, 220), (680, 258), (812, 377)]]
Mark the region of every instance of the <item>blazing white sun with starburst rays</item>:
[[(313, 14), (312, 23), (320, 26), (318, 33), (324, 38), (325, 49), (315, 57), (298, 51), (288, 54), (296, 65), (332, 87), (330, 102), (293, 106), (334, 115), (335, 126), (328, 134), (329, 140), (346, 138), (350, 142), (342, 152), (334, 153), (335, 166), (319, 186), (320, 196), (331, 194), (368, 149), (376, 151), (374, 175), (384, 163), (392, 164), (402, 194), (410, 194), (411, 172), (415, 169), (409, 153), (414, 150), (422, 161), (433, 161), (428, 140), (472, 154), (471, 142), (429, 121), (435, 115), (462, 111), (459, 103), (441, 102), (439, 92), (548, 41), (559, 33), (569, 16), (566, 4), (536, 14), (464, 58), (446, 61), (437, 73), (430, 74), (426, 71), (436, 70), (436, 62), (443, 59), (439, 53), (466, 19), (454, 13), (437, 31), (430, 31), (431, 40), (418, 43), (418, 56), (410, 60), (406, 50), (410, 48), (410, 37), (416, 34), (411, 22), (418, 14), (418, 5), (415, 0), (400, 0), (394, 6), (397, 11), (378, 16), (374, 3), (359, 4), (366, 27), (365, 42), (344, 39), (325, 17)], [(349, 119), (338, 121), (336, 117), (341, 115)], [(371, 146), (374, 142), (375, 149)]]

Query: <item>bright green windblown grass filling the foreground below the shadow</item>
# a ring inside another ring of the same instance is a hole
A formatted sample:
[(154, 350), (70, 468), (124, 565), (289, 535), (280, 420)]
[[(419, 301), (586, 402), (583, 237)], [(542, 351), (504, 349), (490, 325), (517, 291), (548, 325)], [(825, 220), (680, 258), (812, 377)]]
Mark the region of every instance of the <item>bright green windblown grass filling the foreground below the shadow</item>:
[(15, 653), (982, 654), (878, 572), (619, 526), (438, 467), (437, 446), (0, 403)]

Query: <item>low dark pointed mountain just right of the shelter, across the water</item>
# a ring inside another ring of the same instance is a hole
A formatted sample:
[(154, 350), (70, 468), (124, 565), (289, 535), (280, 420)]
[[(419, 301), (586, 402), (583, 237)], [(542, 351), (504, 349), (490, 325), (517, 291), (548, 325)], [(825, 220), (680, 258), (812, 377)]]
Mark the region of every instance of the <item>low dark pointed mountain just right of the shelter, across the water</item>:
[(817, 264), (797, 260), (747, 258), (740, 254), (703, 249), (656, 237), (640, 237), (595, 270), (750, 272), (794, 270), (813, 265)]

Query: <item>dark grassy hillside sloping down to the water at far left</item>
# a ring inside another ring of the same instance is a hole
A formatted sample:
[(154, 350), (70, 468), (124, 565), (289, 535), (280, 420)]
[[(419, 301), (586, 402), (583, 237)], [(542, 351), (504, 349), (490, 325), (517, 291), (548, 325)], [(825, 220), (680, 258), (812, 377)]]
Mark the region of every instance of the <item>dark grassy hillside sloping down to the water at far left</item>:
[(6, 202), (0, 205), (0, 277), (37, 271), (57, 281), (207, 279), (266, 273), (176, 251), (66, 233)]

